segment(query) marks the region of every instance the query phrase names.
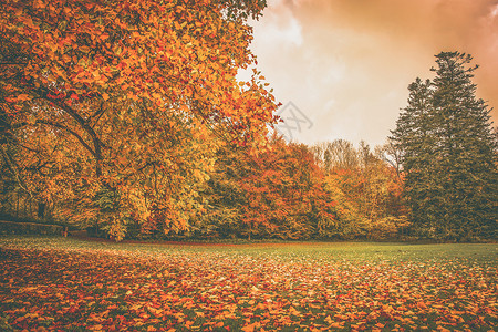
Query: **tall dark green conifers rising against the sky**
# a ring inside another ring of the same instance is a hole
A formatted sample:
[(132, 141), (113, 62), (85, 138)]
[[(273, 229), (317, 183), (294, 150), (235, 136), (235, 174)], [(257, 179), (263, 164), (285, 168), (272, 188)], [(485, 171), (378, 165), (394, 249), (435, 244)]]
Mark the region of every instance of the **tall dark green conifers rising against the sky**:
[(408, 86), (408, 106), (392, 132), (402, 151), (412, 219), (430, 237), (496, 237), (497, 139), (491, 108), (476, 97), (473, 58), (436, 55), (433, 81)]

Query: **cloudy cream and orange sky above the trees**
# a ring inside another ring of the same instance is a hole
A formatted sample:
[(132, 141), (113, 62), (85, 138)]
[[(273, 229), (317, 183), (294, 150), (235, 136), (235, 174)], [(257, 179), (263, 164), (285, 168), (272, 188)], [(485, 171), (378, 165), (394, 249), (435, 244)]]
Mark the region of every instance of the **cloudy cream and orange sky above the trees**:
[(474, 56), (477, 96), (498, 108), (498, 0), (269, 0), (250, 24), (288, 141), (385, 143), (442, 51)]

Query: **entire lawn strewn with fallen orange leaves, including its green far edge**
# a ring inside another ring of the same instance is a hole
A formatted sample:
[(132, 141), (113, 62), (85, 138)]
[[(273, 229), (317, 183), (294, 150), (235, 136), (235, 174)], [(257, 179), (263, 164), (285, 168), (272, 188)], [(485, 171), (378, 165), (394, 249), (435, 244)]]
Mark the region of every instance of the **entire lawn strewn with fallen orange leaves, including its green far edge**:
[(497, 245), (0, 238), (0, 331), (495, 331)]

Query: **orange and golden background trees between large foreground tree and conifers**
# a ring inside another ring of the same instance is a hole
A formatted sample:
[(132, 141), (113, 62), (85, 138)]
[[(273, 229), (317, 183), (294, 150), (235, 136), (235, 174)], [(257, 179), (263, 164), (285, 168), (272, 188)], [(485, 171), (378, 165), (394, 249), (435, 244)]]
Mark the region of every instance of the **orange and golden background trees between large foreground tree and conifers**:
[[(307, 146), (273, 136), (257, 155), (218, 152), (200, 194), (205, 212), (196, 237), (279, 239), (385, 239), (407, 226), (402, 181), (363, 144), (345, 141)], [(344, 160), (346, 163), (343, 163)]]

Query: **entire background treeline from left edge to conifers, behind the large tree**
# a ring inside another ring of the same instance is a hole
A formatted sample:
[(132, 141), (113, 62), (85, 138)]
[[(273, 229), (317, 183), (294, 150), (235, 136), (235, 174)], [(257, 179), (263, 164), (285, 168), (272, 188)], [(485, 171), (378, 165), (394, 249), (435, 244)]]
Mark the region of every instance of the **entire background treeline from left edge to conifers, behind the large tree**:
[[(268, 147), (259, 152), (234, 144), (220, 144), (212, 154), (209, 170), (194, 176), (195, 190), (183, 196), (185, 188), (168, 187), (172, 205), (149, 214), (122, 217), (123, 238), (149, 239), (394, 239), (407, 235), (403, 181), (387, 160), (388, 149), (372, 151), (362, 143), (338, 139), (314, 146), (287, 143), (273, 135)], [(184, 160), (187, 163), (187, 160)], [(189, 163), (197, 164), (196, 160)], [(41, 217), (32, 207), (25, 214), (15, 181), (7, 180), (3, 164), (3, 214)], [(184, 165), (184, 167), (187, 167)], [(190, 166), (191, 167), (191, 166)], [(178, 169), (178, 176), (181, 176)], [(149, 175), (149, 185), (157, 177)], [(194, 186), (191, 181), (188, 183)], [(164, 186), (164, 183), (159, 183)], [(194, 188), (190, 188), (194, 189)], [(165, 188), (163, 188), (165, 190)], [(176, 190), (176, 193), (175, 193)], [(120, 215), (120, 193), (101, 190), (81, 211), (81, 201), (60, 197), (48, 204), (44, 218), (76, 224), (93, 235), (117, 235), (115, 224), (105, 214)], [(89, 197), (82, 197), (82, 200)], [(123, 199), (123, 197), (121, 198)], [(45, 204), (45, 203), (44, 203)], [(17, 209), (15, 209), (17, 208)], [(100, 209), (100, 215), (92, 214)], [(172, 222), (168, 218), (185, 218)], [(98, 218), (101, 216), (101, 218)], [(104, 217), (102, 217), (104, 216)]]

